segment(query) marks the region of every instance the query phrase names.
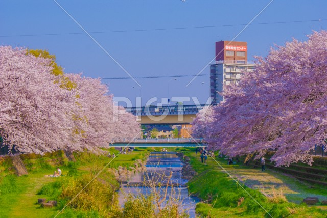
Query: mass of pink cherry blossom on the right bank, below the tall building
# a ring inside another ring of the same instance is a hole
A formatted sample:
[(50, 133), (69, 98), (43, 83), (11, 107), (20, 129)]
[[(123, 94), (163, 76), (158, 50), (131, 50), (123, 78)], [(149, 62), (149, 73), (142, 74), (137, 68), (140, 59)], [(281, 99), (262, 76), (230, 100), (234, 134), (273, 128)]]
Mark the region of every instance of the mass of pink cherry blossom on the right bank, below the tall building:
[(231, 156), (275, 151), (277, 166), (310, 164), (309, 151), (327, 138), (327, 32), (277, 46), (256, 62), (239, 85), (224, 88), (207, 141)]

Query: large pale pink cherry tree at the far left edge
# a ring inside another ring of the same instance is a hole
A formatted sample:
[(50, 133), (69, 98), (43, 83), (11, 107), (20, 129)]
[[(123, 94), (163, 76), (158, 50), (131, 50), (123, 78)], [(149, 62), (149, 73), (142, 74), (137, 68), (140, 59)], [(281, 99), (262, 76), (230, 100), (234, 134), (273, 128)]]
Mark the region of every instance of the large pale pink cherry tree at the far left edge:
[(49, 60), (0, 47), (0, 135), (20, 152), (64, 149), (72, 141), (76, 91), (54, 84)]

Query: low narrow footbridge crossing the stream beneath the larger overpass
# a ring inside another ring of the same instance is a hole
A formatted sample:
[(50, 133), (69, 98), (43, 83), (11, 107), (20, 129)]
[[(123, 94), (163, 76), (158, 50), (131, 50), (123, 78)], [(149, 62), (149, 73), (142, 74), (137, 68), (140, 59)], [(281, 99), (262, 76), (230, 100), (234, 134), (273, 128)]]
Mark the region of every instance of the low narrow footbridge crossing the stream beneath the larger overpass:
[(202, 147), (203, 138), (135, 138), (112, 139), (109, 147)]

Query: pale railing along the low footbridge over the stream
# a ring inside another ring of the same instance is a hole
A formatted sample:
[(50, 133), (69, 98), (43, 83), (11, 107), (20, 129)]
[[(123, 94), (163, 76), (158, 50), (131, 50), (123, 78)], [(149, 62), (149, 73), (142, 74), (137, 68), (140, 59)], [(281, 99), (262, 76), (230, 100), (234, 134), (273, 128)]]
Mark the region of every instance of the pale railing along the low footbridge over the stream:
[(129, 142), (203, 142), (203, 138), (117, 138), (111, 139), (110, 143), (129, 143)]

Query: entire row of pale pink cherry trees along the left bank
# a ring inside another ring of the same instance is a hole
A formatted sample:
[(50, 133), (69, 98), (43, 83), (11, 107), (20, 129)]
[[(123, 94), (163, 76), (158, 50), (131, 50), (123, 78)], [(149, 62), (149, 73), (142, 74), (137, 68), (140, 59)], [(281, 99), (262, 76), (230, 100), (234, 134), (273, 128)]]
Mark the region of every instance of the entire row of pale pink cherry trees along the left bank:
[(114, 106), (100, 79), (56, 75), (52, 63), (26, 49), (0, 47), (3, 144), (25, 153), (96, 151), (111, 138), (133, 138), (139, 133), (136, 117)]

